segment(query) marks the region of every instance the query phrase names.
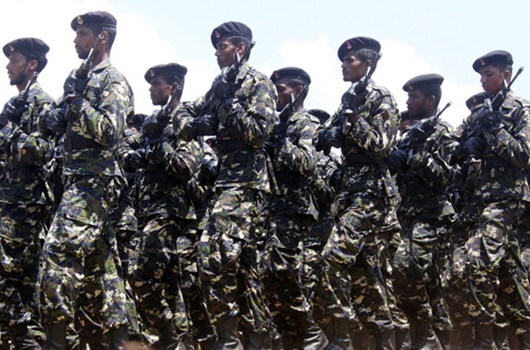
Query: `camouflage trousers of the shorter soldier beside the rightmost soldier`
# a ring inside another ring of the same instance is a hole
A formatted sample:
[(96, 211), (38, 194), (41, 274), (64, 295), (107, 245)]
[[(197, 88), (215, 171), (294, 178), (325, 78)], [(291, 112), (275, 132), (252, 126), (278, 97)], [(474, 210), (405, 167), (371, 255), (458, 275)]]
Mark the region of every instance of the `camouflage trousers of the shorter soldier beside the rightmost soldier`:
[(443, 298), (440, 251), (444, 225), (437, 214), (406, 218), (402, 243), (393, 260), (392, 280), (396, 302), (407, 318), (429, 322), (437, 330), (451, 329)]

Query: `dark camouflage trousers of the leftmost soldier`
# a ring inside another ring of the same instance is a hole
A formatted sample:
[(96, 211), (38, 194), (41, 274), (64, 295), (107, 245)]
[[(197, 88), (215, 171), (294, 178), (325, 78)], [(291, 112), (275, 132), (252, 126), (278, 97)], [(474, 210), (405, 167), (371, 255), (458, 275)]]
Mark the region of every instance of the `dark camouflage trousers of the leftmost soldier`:
[(44, 339), (39, 315), (41, 242), (49, 220), (47, 205), (0, 204), (0, 324), (25, 325)]

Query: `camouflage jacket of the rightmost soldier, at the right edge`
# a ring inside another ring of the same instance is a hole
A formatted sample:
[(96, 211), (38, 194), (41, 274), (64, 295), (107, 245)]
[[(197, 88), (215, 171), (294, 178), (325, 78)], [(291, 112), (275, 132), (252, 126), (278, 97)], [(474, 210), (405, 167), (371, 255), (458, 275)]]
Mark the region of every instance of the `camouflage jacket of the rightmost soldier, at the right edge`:
[(481, 157), (475, 195), (483, 203), (509, 198), (530, 201), (525, 176), (525, 171), (530, 169), (530, 103), (509, 92), (499, 108), (504, 127), (497, 135), (484, 130), (478, 123), (478, 116), (484, 108), (474, 109), (464, 121), (462, 132), (463, 142), (478, 134), (487, 143)]

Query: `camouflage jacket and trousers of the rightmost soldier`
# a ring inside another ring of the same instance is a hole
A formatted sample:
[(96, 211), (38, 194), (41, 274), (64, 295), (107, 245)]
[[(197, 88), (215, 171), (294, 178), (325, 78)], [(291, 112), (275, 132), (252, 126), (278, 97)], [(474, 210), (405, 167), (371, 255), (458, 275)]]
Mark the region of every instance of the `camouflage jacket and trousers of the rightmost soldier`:
[[(465, 307), (475, 325), (491, 325), (503, 315), (519, 332), (530, 330), (528, 276), (521, 264), (515, 226), (530, 201), (525, 172), (530, 166), (530, 104), (511, 92), (500, 107), (498, 135), (480, 130), (487, 143), (477, 175), (478, 222), (465, 244), (465, 277), (471, 295)], [(463, 140), (474, 135), (475, 109)]]

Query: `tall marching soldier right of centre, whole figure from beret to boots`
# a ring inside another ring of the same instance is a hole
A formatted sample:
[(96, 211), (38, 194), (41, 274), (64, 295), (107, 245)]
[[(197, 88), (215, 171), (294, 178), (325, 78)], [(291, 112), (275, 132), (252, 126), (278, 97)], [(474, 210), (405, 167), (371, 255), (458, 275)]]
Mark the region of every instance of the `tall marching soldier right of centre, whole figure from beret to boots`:
[(352, 86), (313, 138), (317, 150), (340, 147), (344, 156), (340, 173), (334, 175), (338, 223), (324, 247), (320, 288), (333, 324), (329, 349), (352, 348), (352, 307), (377, 349), (393, 347), (380, 245), (397, 222), (391, 205), (397, 191), (385, 159), (395, 144), (399, 112), (390, 92), (371, 79), (380, 49), (379, 42), (363, 36), (339, 47), (342, 79)]

